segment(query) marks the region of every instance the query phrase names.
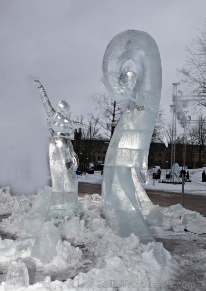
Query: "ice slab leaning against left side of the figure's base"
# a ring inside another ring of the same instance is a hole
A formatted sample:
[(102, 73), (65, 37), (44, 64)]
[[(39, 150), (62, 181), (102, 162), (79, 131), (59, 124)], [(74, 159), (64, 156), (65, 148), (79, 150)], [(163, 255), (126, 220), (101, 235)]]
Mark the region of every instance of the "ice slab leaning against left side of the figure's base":
[(37, 196), (32, 204), (32, 210), (47, 216), (51, 204), (51, 187), (45, 186), (44, 190), (42, 188), (38, 188), (37, 191)]

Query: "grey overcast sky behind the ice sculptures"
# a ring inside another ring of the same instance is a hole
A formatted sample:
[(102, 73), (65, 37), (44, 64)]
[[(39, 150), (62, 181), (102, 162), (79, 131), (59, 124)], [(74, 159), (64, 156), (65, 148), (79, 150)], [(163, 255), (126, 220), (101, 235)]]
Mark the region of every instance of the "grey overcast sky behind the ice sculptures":
[(160, 103), (169, 116), (176, 68), (205, 17), (206, 0), (0, 0), (1, 146), (45, 144), (47, 116), (29, 75), (39, 78), (53, 106), (67, 99), (72, 116), (94, 111), (88, 98), (105, 91), (104, 51), (126, 29), (148, 32), (157, 43)]

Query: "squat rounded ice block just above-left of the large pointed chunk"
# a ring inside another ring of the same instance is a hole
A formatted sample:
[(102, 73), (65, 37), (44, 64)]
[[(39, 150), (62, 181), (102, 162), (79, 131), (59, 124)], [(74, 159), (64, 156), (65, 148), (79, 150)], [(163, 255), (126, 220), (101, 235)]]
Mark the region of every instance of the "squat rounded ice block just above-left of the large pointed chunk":
[(36, 234), (39, 233), (44, 223), (45, 215), (38, 212), (29, 212), (24, 216), (21, 227), (25, 229), (27, 233)]

